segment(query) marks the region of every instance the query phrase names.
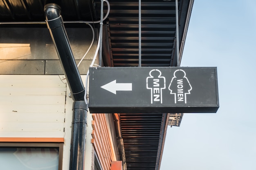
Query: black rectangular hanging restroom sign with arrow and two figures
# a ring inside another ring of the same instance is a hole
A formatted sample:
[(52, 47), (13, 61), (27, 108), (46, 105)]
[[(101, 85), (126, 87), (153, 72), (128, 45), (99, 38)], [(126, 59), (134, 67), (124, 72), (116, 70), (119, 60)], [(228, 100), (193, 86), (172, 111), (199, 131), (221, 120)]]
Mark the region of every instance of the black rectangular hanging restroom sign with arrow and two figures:
[(216, 67), (91, 67), (90, 113), (216, 113)]

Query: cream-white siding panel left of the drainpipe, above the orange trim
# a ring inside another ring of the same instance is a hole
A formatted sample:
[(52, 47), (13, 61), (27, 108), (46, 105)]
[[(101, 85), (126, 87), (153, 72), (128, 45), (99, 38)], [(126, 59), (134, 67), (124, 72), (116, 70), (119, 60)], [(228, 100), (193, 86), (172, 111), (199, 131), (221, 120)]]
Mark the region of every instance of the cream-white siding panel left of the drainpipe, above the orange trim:
[(0, 75), (0, 137), (64, 137), (66, 83), (58, 75)]

